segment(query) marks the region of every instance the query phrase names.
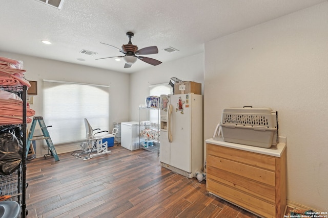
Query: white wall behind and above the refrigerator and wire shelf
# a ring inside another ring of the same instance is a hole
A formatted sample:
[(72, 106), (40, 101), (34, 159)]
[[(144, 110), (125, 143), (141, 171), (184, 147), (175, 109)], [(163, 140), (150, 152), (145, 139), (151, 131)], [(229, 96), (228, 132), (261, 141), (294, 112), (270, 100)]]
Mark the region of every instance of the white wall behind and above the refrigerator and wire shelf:
[(149, 96), (149, 86), (160, 83), (169, 84), (172, 77), (183, 81), (194, 81), (202, 84), (203, 90), (204, 57), (203, 53), (181, 58), (169, 63), (162, 63), (148, 70), (131, 75), (130, 87), (130, 120), (138, 121), (139, 105), (145, 104)]

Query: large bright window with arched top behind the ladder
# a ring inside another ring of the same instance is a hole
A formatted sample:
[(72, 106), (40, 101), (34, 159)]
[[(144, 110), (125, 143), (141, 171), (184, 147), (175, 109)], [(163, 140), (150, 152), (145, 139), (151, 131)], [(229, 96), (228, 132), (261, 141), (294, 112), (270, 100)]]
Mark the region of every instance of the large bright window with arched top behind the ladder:
[(54, 144), (85, 140), (93, 129), (109, 129), (109, 86), (44, 80), (43, 111)]

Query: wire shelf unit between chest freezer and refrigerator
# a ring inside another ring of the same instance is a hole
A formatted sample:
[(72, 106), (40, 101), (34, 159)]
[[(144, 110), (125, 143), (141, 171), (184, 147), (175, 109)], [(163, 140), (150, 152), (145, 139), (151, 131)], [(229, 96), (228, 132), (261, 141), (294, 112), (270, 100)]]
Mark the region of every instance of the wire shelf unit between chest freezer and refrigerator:
[[(156, 113), (155, 120), (150, 120), (150, 111)], [(159, 157), (159, 146), (160, 146), (160, 123), (159, 123), (159, 108), (142, 108), (139, 107), (139, 148), (145, 149), (147, 151), (157, 153)], [(141, 122), (152, 121), (150, 125), (140, 125)], [(142, 131), (148, 131), (150, 135), (157, 132), (157, 137), (145, 138)]]

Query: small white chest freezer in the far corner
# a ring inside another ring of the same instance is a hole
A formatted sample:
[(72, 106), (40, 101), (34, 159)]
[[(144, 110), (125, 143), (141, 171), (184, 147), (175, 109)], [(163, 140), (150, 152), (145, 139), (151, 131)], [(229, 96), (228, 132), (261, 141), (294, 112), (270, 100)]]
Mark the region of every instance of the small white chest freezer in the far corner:
[(121, 147), (134, 151), (139, 149), (139, 131), (136, 121), (121, 123)]

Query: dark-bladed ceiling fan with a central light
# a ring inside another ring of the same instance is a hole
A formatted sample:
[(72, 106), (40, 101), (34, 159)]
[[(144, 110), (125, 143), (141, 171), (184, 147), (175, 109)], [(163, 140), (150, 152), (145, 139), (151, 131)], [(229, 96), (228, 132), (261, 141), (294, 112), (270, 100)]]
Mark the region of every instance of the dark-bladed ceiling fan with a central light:
[[(118, 49), (117, 47), (115, 47), (113, 45), (100, 42), (101, 44), (105, 44), (110, 47), (113, 47), (114, 49), (117, 49), (119, 52), (124, 54), (124, 56), (114, 56), (114, 57), (107, 57), (107, 58), (123, 58), (124, 61), (126, 62), (126, 64), (124, 65), (124, 68), (131, 67), (132, 64), (134, 64), (137, 61), (137, 59), (144, 61), (148, 64), (154, 65), (154, 66), (162, 63), (159, 60), (156, 60), (153, 58), (136, 56), (136, 55), (157, 54), (158, 53), (157, 46), (144, 47), (143, 49), (138, 50), (138, 46), (132, 44), (132, 42), (131, 42), (131, 38), (134, 36), (134, 34), (131, 32), (127, 32), (127, 36), (129, 37), (129, 42), (128, 42), (128, 44), (122, 45), (122, 49)], [(106, 59), (106, 58), (98, 58), (96, 60), (100, 60), (100, 59)]]

